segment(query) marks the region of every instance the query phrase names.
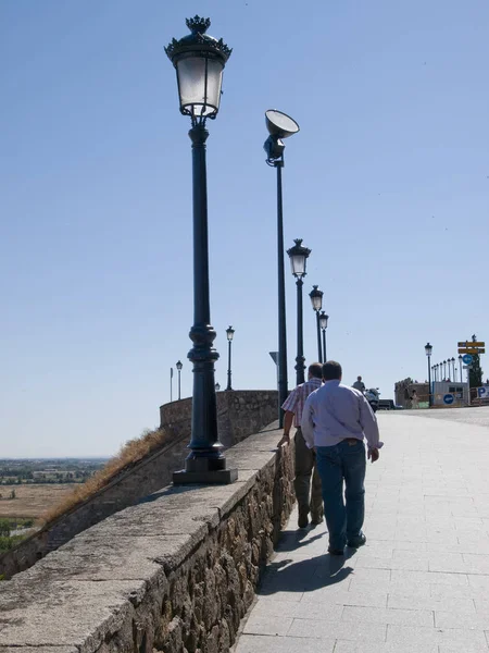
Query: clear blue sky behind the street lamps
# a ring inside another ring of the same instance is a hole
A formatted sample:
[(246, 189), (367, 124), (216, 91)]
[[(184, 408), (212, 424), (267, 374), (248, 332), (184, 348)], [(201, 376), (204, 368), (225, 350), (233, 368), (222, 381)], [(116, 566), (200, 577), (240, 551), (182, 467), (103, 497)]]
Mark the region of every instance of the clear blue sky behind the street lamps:
[[(210, 16), (234, 48), (208, 141), (212, 323), (226, 382), (274, 387), (275, 172), (286, 246), (312, 248), (328, 356), (393, 396), (489, 341), (489, 4), (0, 2), (0, 456), (110, 455), (191, 393), (191, 168), (163, 47)], [(296, 287), (287, 262), (289, 383)], [(305, 356), (316, 358), (304, 299)], [(489, 374), (489, 364), (482, 358)]]

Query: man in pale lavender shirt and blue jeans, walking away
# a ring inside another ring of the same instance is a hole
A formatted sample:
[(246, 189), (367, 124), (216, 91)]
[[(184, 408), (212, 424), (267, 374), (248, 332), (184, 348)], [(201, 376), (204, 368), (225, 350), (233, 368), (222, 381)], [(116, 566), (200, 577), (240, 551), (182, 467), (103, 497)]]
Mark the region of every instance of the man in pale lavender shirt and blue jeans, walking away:
[(358, 549), (366, 542), (362, 530), (366, 467), (363, 440), (366, 438), (372, 463), (378, 460), (383, 446), (368, 402), (359, 390), (342, 385), (341, 375), (339, 362), (330, 360), (323, 366), (324, 385), (305, 401), (301, 421), (308, 446), (316, 449), (331, 555), (343, 555), (347, 544)]

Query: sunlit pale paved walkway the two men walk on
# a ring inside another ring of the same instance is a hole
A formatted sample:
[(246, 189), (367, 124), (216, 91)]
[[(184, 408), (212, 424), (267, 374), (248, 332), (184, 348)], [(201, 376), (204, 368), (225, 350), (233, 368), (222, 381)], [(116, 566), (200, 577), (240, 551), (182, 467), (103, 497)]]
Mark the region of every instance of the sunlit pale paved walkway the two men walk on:
[(489, 651), (489, 408), (379, 421), (367, 544), (331, 557), (293, 514), (236, 653)]

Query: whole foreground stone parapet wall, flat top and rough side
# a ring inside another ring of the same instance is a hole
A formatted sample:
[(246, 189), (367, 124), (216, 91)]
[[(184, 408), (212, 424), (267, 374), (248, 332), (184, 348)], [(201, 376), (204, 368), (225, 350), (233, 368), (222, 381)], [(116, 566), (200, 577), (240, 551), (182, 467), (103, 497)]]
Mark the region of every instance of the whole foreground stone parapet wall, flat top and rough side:
[(0, 652), (227, 653), (293, 503), (279, 438), (228, 451), (236, 483), (164, 488), (3, 581)]

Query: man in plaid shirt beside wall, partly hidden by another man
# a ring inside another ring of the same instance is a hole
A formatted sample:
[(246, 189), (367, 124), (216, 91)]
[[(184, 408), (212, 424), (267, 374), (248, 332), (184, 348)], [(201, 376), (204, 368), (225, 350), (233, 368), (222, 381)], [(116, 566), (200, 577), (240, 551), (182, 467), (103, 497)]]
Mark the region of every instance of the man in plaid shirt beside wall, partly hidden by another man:
[(323, 521), (323, 497), (319, 473), (316, 466), (316, 454), (305, 444), (301, 431), (304, 403), (312, 392), (321, 387), (322, 378), (323, 366), (321, 362), (310, 365), (308, 381), (298, 385), (296, 390), (292, 390), (281, 406), (286, 411), (284, 416), (284, 436), (277, 446), (289, 444), (292, 423), (297, 429), (294, 436), (296, 479), (293, 481), (293, 489), (299, 506), (299, 528), (306, 528), (310, 514), (313, 526)]

